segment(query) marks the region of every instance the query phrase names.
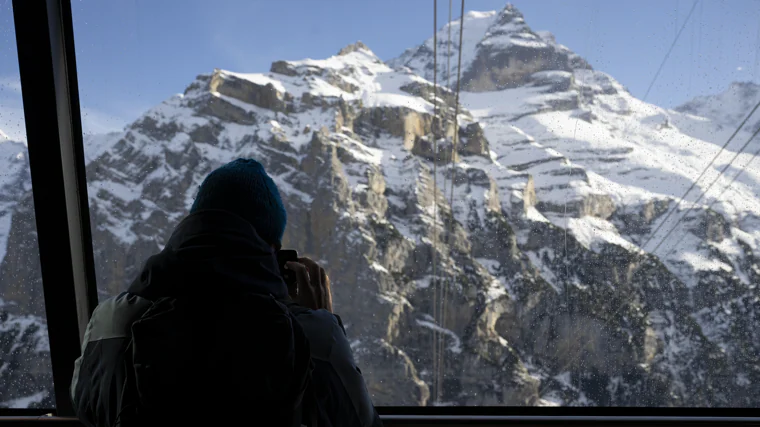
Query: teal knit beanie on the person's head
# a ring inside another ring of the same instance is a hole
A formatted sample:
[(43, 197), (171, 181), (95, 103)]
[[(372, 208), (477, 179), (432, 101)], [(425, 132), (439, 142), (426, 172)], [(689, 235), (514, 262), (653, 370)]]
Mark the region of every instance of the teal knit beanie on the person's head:
[(278, 247), (288, 221), (277, 185), (253, 159), (237, 159), (212, 171), (201, 184), (190, 213), (203, 209), (243, 217), (265, 242)]

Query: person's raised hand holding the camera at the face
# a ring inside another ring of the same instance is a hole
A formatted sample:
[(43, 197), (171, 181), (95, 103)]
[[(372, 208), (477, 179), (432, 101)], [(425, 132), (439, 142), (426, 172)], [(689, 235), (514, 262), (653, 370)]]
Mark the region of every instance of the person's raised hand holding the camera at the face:
[(285, 268), (296, 273), (298, 295), (294, 300), (312, 310), (324, 308), (332, 313), (332, 291), (330, 278), (325, 269), (309, 258), (298, 258), (298, 262), (290, 261)]

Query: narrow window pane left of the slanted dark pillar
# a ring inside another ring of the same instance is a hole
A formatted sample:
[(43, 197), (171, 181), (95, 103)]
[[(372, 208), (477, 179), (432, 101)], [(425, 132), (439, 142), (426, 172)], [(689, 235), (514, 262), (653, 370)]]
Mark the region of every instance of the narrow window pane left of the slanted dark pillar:
[(0, 2), (0, 408), (53, 408), (11, 2)]

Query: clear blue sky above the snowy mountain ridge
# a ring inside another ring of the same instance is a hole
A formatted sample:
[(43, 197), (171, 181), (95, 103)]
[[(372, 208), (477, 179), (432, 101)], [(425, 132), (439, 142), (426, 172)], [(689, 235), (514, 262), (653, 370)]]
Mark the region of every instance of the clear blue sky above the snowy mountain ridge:
[[(459, 1), (454, 0), (457, 17)], [(642, 97), (693, 0), (513, 0)], [(469, 0), (497, 10), (502, 0)], [(214, 68), (264, 72), (278, 59), (324, 58), (361, 40), (390, 59), (433, 32), (433, 0), (72, 0), (85, 130), (121, 128)], [(439, 26), (448, 1), (438, 1)], [(465, 27), (467, 31), (467, 27)], [(672, 107), (732, 81), (760, 83), (760, 0), (702, 0), (648, 97)], [(0, 129), (19, 134), (9, 0), (0, 0)], [(23, 129), (21, 129), (23, 132)]]

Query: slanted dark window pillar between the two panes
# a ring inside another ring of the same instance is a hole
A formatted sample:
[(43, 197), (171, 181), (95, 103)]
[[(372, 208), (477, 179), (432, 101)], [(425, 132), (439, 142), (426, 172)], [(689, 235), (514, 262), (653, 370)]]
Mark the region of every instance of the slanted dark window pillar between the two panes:
[(71, 3), (14, 0), (12, 7), (54, 412), (68, 416), (74, 361), (97, 305)]

